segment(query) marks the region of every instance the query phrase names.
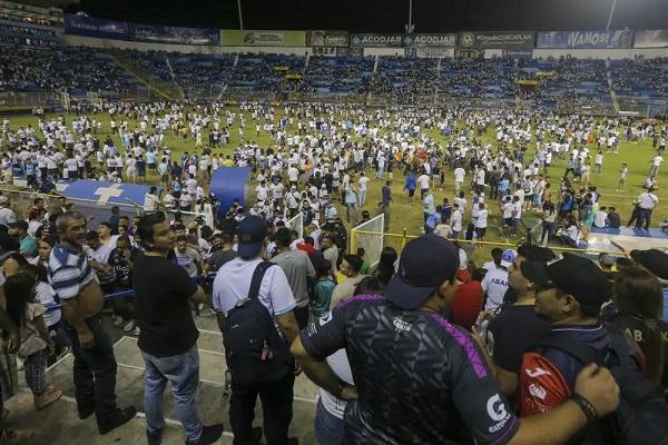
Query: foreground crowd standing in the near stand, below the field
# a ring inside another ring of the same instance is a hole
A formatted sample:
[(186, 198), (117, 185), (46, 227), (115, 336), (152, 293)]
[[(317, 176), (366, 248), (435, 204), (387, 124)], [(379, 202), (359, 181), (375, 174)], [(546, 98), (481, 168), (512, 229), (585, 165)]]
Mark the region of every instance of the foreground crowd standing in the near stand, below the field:
[[(650, 421), (616, 413), (629, 392), (662, 398), (668, 387), (664, 251), (595, 263), (523, 244), (475, 264), (456, 243), (428, 234), (401, 255), (386, 247), (370, 267), (364, 251), (337, 248), (336, 225), (299, 238), (281, 220), (245, 214), (186, 230), (147, 211), (131, 221), (111, 215), (89, 230), (65, 198), (51, 208), (36, 198), (27, 214), (31, 224), (0, 209), (2, 396), (14, 394), (7, 364), (18, 356), (35, 408), (47, 409), (62, 392), (48, 384), (46, 366), (71, 352), (79, 417), (95, 414), (102, 435), (136, 415), (115, 403), (106, 316), (138, 336), (148, 444), (163, 441), (168, 382), (186, 443), (222, 435), (222, 424), (203, 425), (196, 405), (194, 319), (204, 306), (223, 334), (235, 443), (298, 443), (288, 428), (302, 370), (322, 388), (320, 444), (608, 444), (618, 434), (658, 443), (668, 434), (665, 402), (636, 405)], [(105, 301), (118, 289), (131, 297)], [(264, 428), (253, 423), (258, 396)], [(29, 439), (0, 435), (2, 444)]]

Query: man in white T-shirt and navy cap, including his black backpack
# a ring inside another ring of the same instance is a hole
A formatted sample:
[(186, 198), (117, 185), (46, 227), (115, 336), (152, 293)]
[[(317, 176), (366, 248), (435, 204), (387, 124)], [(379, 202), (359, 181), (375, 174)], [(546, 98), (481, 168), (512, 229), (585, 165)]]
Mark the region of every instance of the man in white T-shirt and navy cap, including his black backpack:
[(298, 334), (296, 307), (285, 273), (264, 261), (267, 224), (257, 216), (239, 222), (239, 256), (214, 280), (213, 306), (232, 375), (229, 422), (235, 444), (258, 444), (255, 403), (263, 405), (267, 445), (296, 443), (287, 431), (293, 416), (295, 364), (288, 345)]

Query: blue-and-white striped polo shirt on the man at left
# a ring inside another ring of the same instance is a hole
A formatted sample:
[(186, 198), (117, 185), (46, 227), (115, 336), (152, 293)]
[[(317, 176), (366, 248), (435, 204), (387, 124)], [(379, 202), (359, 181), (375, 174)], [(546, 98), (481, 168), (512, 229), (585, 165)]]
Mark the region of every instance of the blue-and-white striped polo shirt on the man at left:
[(49, 256), (49, 283), (61, 299), (75, 298), (95, 279), (86, 254), (58, 244)]

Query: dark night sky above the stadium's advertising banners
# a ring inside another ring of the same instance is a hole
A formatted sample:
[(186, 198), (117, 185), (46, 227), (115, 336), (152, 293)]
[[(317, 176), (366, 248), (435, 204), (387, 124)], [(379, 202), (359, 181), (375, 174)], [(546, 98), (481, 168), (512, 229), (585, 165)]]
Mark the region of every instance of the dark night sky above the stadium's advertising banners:
[[(246, 29), (402, 32), (409, 0), (240, 0)], [(415, 32), (605, 29), (612, 0), (413, 0)], [(80, 0), (69, 12), (145, 23), (238, 28), (236, 0)], [(668, 0), (618, 0), (612, 29), (668, 28)]]

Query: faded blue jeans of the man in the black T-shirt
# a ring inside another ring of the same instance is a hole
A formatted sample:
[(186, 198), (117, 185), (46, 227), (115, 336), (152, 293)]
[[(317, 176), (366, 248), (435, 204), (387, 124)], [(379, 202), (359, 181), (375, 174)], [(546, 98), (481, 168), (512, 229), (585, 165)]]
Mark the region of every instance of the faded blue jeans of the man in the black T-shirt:
[(187, 353), (171, 357), (154, 357), (141, 352), (146, 370), (144, 388), (144, 408), (146, 409), (146, 427), (149, 433), (163, 431), (165, 417), (163, 403), (167, 382), (171, 384), (174, 406), (180, 423), (186, 429), (189, 441), (202, 436), (202, 422), (197, 414), (195, 397), (199, 384), (199, 353), (194, 345)]

